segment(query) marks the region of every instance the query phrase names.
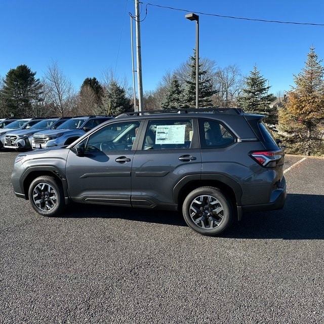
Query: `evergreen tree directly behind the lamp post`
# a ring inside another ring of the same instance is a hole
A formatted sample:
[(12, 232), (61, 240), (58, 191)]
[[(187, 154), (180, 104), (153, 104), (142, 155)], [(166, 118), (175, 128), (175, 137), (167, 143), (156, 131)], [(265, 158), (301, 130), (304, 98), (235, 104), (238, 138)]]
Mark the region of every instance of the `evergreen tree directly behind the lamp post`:
[[(185, 79), (185, 93), (184, 99), (188, 107), (196, 106), (196, 51), (193, 56), (190, 56), (190, 60), (187, 63), (190, 67), (190, 72)], [(201, 69), (199, 64), (199, 107), (211, 107), (211, 97), (216, 93), (213, 87), (213, 82), (208, 77), (208, 71)]]

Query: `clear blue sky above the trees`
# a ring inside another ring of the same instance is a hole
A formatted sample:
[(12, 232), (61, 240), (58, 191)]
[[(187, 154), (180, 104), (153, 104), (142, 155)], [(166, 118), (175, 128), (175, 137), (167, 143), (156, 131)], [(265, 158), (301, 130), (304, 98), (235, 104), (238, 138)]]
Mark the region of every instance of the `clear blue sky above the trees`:
[[(245, 75), (257, 65), (275, 95), (294, 85), (293, 74), (304, 67), (311, 46), (324, 58), (324, 26), (203, 14), (324, 24), (323, 0), (143, 1), (144, 91), (154, 90), (195, 47), (195, 22), (184, 18), (186, 12), (149, 3), (199, 13), (200, 58), (215, 60), (219, 67), (236, 64)], [(0, 8), (0, 76), (26, 64), (42, 78), (55, 61), (77, 91), (86, 77), (101, 80), (109, 69), (132, 86), (129, 12), (135, 14), (134, 0), (2, 0)]]

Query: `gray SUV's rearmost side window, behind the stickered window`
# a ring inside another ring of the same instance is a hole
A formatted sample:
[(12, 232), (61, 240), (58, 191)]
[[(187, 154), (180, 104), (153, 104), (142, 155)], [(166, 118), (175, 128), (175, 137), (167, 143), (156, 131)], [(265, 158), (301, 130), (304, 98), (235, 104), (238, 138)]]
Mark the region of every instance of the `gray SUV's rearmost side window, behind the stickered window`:
[(231, 132), (216, 120), (199, 120), (200, 147), (224, 147), (235, 143)]

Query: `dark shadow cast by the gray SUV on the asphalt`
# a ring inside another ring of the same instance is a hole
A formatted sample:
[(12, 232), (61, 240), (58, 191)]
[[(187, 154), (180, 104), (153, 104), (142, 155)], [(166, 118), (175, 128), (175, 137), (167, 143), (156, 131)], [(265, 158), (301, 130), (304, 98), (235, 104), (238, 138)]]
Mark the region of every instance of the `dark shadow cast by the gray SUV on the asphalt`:
[[(106, 205), (71, 204), (63, 217), (120, 218), (187, 226), (178, 212)], [(324, 239), (324, 195), (288, 194), (284, 209), (246, 213), (240, 222), (235, 222), (220, 236), (243, 239)]]

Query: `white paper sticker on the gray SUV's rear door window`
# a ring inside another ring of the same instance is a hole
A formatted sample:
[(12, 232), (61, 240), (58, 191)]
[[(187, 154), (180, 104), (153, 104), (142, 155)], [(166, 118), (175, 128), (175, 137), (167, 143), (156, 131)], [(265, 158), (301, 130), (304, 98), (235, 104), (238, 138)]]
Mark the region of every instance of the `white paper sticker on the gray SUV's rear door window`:
[(155, 144), (184, 144), (186, 125), (157, 125)]

